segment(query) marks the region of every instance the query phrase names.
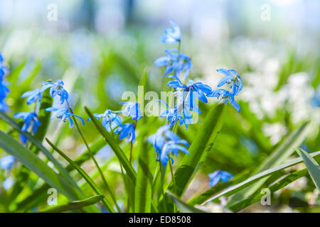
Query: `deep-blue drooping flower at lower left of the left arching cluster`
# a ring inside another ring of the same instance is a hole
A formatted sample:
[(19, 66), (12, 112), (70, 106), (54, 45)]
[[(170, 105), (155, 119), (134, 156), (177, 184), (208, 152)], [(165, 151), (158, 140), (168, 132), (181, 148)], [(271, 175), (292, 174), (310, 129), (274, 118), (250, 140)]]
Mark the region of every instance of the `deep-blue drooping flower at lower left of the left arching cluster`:
[[(34, 112), (21, 112), (14, 114), (14, 118), (22, 118), (23, 119), (23, 126), (21, 128), (22, 132), (28, 131), (28, 129), (32, 128), (32, 133), (36, 133), (38, 131), (38, 126), (41, 126), (41, 123), (38, 119), (38, 116)], [(26, 143), (27, 138), (20, 134), (20, 140), (23, 144)]]

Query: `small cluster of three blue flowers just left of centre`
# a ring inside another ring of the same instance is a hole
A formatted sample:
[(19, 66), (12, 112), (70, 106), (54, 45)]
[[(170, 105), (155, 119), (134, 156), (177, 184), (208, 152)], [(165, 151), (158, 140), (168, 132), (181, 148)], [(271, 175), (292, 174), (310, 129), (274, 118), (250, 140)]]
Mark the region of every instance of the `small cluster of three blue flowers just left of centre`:
[[(107, 109), (104, 114), (93, 114), (97, 119), (102, 118), (102, 126), (110, 132), (114, 131), (114, 133), (119, 134), (120, 139), (127, 138), (128, 143), (134, 143), (136, 138), (135, 128), (137, 125), (137, 121), (139, 121), (142, 117), (140, 106), (137, 102), (127, 101), (120, 102), (121, 105), (124, 105), (123, 111), (111, 111)], [(118, 113), (126, 114), (128, 117), (131, 117), (135, 123), (124, 123), (122, 125), (122, 119), (117, 116)], [(90, 118), (87, 119), (88, 121)]]

